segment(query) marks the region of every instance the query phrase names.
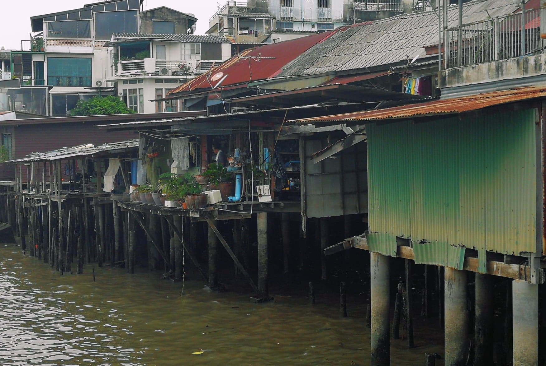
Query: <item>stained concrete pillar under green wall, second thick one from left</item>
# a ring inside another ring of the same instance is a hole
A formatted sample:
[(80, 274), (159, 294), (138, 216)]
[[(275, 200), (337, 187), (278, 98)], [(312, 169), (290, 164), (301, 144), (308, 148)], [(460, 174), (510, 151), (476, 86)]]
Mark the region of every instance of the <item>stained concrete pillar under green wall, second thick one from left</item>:
[(466, 272), (445, 268), (444, 272), (444, 365), (466, 364), (468, 312)]

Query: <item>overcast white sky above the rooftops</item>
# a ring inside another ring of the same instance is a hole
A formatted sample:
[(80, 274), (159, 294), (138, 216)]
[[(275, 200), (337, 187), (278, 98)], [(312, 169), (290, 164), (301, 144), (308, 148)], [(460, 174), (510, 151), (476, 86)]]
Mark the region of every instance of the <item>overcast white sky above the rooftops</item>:
[[(21, 40), (30, 39), (31, 16), (78, 9), (96, 0), (0, 1), (0, 46), (9, 50), (19, 49)], [(198, 19), (196, 34), (204, 34), (209, 29), (209, 18), (216, 12), (219, 4), (226, 2), (227, 0), (144, 0), (144, 10), (165, 6), (182, 13), (194, 14)]]

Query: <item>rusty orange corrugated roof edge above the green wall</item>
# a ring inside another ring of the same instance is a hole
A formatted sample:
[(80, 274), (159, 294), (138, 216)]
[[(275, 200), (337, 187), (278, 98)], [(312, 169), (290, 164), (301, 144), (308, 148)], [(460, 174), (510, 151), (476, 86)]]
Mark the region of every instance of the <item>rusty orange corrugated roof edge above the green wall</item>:
[(403, 105), (392, 108), (343, 113), (341, 115), (294, 119), (288, 122), (315, 123), (337, 121), (374, 121), (381, 119), (397, 119), (411, 117), (426, 117), (434, 115), (449, 115), (482, 109), (489, 106), (513, 103), (515, 101), (546, 97), (545, 87), (526, 87), (500, 92), (491, 92), (468, 97), (434, 100), (428, 103)]

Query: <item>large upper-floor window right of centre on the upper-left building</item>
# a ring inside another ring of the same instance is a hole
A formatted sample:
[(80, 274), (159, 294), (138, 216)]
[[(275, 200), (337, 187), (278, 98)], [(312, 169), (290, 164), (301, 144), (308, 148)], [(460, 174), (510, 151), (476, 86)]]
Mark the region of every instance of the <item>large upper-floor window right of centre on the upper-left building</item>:
[(95, 38), (110, 40), (114, 33), (138, 33), (138, 11), (109, 11), (95, 14)]

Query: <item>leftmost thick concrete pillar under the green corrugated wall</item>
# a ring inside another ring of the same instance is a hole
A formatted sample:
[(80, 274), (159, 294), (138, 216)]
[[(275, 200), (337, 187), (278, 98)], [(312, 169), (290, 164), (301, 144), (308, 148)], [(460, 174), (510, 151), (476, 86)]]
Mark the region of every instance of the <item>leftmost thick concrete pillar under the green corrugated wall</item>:
[(389, 366), (389, 257), (370, 253), (371, 365)]

